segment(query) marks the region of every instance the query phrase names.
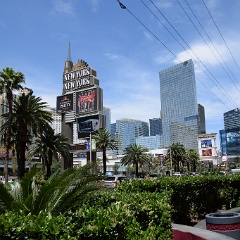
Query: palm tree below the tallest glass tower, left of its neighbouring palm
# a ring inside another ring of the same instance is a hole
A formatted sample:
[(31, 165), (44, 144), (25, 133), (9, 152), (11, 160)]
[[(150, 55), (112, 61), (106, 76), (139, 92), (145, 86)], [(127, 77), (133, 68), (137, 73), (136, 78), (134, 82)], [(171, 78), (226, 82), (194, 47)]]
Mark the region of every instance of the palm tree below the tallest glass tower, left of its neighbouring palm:
[(180, 143), (173, 143), (169, 146), (167, 157), (172, 161), (172, 164), (175, 166), (175, 171), (179, 172), (180, 162), (184, 162), (186, 155), (186, 150), (184, 146)]

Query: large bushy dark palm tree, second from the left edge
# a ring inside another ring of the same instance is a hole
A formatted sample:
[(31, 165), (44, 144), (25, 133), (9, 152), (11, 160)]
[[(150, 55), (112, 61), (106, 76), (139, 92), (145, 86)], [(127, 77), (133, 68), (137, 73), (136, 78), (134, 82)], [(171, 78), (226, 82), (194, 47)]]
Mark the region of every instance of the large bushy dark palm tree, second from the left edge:
[[(16, 146), (18, 177), (25, 174), (26, 150), (31, 136), (37, 136), (46, 129), (52, 121), (51, 113), (46, 111), (47, 103), (31, 93), (22, 93), (13, 101), (12, 136)], [(4, 114), (6, 123), (2, 126), (4, 132), (8, 126), (8, 113)]]

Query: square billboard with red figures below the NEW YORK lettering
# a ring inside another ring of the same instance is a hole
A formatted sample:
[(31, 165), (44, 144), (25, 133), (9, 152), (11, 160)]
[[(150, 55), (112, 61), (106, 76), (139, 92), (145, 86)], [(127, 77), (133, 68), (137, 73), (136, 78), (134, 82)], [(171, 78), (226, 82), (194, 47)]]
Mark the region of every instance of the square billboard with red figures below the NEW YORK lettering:
[(76, 92), (76, 114), (83, 115), (99, 111), (99, 100), (98, 88)]

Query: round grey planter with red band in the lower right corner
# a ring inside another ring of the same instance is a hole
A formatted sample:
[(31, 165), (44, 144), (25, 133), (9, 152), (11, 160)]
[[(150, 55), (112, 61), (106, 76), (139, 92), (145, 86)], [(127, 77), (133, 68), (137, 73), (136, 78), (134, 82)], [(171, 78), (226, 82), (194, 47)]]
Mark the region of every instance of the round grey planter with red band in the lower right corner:
[(205, 216), (206, 229), (240, 240), (240, 213), (219, 211)]

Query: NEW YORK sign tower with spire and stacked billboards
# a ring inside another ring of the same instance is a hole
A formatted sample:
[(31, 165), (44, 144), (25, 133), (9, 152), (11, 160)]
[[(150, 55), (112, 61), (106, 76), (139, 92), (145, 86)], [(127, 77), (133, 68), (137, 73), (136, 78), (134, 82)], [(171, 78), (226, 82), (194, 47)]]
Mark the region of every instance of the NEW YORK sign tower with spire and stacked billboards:
[[(62, 114), (62, 135), (69, 139), (68, 143), (71, 146), (73, 124), (77, 123), (78, 138), (91, 139), (91, 133), (104, 125), (102, 111), (103, 91), (99, 87), (97, 72), (82, 59), (73, 64), (69, 43), (63, 72), (62, 95), (57, 97), (57, 112)], [(71, 159), (63, 159), (63, 169), (72, 166), (73, 155)]]

